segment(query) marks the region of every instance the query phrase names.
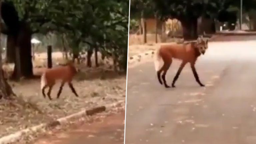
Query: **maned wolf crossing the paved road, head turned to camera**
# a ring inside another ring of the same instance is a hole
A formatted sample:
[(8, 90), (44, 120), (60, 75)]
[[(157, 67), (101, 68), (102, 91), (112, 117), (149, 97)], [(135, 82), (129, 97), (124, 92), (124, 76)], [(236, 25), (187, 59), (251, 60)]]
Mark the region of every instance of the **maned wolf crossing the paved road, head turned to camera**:
[[(195, 69), (195, 62), (201, 54), (205, 53), (207, 47), (208, 47), (208, 40), (204, 41), (201, 38), (199, 38), (197, 42), (190, 42), (187, 44), (172, 44), (172, 45), (160, 46), (160, 48), (156, 52), (156, 60), (155, 60), (155, 67), (156, 67), (159, 83), (160, 84), (164, 83), (165, 87), (167, 88), (170, 87), (166, 84), (165, 75), (167, 70), (171, 66), (172, 59), (175, 58), (175, 59), (182, 60), (182, 63), (178, 69), (177, 74), (173, 79), (172, 87), (175, 87), (174, 84), (178, 79), (182, 69), (187, 63), (190, 63), (190, 66), (196, 81), (199, 83), (200, 86), (204, 86), (199, 80), (198, 74)], [(161, 59), (163, 60), (164, 64), (159, 69), (159, 61)], [(160, 77), (162, 72), (163, 72), (162, 74), (163, 83)]]

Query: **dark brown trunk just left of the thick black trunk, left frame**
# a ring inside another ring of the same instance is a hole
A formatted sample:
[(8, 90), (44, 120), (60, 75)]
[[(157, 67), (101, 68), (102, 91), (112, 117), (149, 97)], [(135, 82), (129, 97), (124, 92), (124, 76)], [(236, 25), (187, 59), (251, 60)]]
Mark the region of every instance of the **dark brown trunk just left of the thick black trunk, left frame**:
[(15, 39), (12, 35), (7, 36), (6, 60), (7, 63), (15, 62)]

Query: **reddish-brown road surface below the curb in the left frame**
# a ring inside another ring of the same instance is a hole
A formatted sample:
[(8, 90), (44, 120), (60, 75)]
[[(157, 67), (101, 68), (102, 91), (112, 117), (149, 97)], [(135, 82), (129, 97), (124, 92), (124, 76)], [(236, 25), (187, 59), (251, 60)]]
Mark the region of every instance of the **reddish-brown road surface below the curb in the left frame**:
[[(125, 111), (100, 113), (90, 120), (51, 130), (36, 136), (29, 144), (123, 144)], [(28, 144), (23, 139), (17, 144)]]

